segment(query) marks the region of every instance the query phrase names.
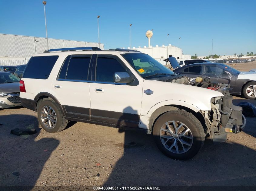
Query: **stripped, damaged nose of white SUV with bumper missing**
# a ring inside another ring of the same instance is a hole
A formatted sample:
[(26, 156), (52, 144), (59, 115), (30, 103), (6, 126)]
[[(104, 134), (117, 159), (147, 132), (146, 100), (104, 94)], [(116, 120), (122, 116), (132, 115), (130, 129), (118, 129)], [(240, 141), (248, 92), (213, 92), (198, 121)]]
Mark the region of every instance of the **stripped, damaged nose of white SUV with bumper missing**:
[(233, 105), (233, 97), (228, 90), (227, 84), (221, 84), (217, 91), (224, 96), (211, 99), (211, 111), (201, 111), (207, 126), (206, 135), (211, 139), (222, 136), (225, 140), (227, 132), (239, 133), (245, 127), (246, 119), (242, 114), (242, 107)]

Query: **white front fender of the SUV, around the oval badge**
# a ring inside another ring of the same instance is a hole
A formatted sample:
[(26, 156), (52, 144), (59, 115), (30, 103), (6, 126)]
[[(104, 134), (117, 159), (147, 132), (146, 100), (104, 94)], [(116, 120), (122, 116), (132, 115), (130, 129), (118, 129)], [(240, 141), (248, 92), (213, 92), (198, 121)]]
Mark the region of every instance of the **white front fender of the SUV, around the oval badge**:
[(197, 107), (198, 110), (211, 110), (211, 98), (223, 96), (221, 92), (206, 88), (156, 80), (144, 80), (143, 90), (153, 92), (151, 95), (146, 93), (142, 95), (142, 104), (145, 104), (145, 107), (150, 106), (150, 108), (156, 103), (172, 100), (175, 103)]

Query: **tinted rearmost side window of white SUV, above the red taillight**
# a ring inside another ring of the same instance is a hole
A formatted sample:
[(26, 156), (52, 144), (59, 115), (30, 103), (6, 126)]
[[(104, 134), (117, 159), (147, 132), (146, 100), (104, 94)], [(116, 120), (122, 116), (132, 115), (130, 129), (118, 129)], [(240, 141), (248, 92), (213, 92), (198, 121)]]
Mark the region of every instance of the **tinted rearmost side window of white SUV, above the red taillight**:
[(23, 74), (23, 78), (47, 79), (59, 56), (32, 57)]

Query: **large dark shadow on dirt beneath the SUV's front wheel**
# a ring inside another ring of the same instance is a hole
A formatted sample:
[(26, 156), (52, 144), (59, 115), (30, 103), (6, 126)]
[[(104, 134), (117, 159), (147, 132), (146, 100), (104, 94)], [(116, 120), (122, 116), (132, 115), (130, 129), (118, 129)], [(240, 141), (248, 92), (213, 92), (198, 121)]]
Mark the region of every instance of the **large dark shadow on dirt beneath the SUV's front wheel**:
[(119, 133), (125, 133), (124, 153), (104, 186), (256, 185), (255, 147), (232, 140), (216, 145), (206, 139), (194, 158), (179, 161), (162, 154), (153, 135), (126, 130)]

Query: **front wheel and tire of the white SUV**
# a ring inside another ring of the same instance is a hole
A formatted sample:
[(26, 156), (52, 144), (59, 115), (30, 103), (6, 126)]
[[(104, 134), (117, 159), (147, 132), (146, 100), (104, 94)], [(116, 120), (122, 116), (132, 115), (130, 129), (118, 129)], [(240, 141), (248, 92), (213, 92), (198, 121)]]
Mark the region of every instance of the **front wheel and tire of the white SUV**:
[(199, 120), (183, 110), (168, 111), (161, 115), (153, 129), (157, 147), (166, 156), (188, 160), (204, 145), (204, 129)]

